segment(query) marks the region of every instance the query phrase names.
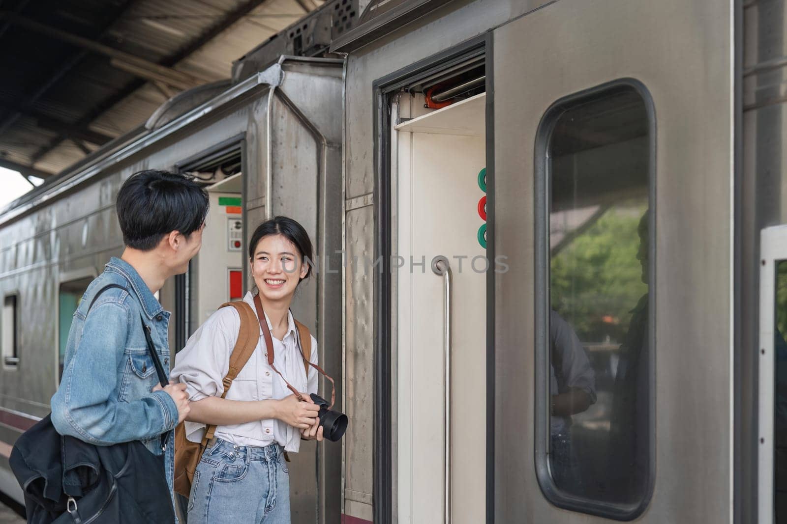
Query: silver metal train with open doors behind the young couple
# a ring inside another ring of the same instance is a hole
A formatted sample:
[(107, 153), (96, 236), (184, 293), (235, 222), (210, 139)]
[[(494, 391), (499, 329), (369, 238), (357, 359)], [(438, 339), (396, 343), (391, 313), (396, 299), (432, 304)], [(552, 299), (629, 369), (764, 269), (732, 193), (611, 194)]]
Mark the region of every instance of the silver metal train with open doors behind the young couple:
[(316, 239), (294, 310), (350, 423), (295, 459), (294, 522), (787, 522), (785, 2), (357, 9), (0, 214), (2, 490), (156, 167), (212, 195), (161, 290), (175, 349), (257, 222)]

